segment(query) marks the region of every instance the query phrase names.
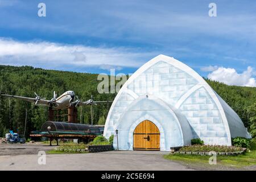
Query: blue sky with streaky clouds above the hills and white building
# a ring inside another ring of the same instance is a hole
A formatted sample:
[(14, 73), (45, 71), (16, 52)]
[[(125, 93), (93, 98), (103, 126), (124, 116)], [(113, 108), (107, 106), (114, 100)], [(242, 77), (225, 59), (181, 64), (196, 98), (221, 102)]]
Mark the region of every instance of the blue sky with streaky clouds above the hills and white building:
[[(208, 15), (211, 2), (217, 17)], [(133, 73), (164, 54), (202, 76), (256, 86), (255, 9), (254, 1), (0, 0), (0, 64)]]

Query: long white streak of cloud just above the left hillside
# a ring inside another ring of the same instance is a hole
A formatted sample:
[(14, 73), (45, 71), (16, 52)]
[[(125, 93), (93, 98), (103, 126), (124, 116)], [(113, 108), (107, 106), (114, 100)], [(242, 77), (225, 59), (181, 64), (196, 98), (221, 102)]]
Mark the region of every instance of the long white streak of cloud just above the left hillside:
[[(137, 53), (133, 49), (89, 47), (51, 42), (18, 42), (0, 38), (0, 64), (34, 67), (139, 67), (155, 56), (152, 52)], [(70, 69), (69, 69), (70, 70)]]

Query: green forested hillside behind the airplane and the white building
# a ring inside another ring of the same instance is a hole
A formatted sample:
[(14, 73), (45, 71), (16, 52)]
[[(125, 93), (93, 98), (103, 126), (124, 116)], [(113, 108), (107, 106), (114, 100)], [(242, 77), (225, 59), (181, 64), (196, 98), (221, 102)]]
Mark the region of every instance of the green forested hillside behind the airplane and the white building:
[[(96, 101), (114, 100), (115, 94), (99, 94), (97, 92), (97, 75), (90, 73), (75, 73), (44, 70), (33, 67), (11, 67), (0, 65), (0, 92), (17, 96), (35, 97), (34, 92), (42, 98), (51, 99), (53, 90), (58, 96), (67, 90), (73, 90), (80, 100), (88, 100), (91, 94)], [(250, 115), (246, 113), (248, 106), (256, 103), (256, 88), (228, 86), (219, 82), (207, 80), (210, 86), (240, 115), (245, 126), (250, 128)], [(106, 104), (93, 106), (93, 123), (105, 122), (108, 109)], [(19, 129), (23, 133), (27, 109), (26, 133), (38, 130), (47, 121), (48, 108), (34, 106), (29, 102), (0, 98), (0, 137), (8, 130)], [(79, 107), (78, 119), (81, 123), (90, 123), (90, 106)], [(65, 120), (65, 118), (63, 118)]]

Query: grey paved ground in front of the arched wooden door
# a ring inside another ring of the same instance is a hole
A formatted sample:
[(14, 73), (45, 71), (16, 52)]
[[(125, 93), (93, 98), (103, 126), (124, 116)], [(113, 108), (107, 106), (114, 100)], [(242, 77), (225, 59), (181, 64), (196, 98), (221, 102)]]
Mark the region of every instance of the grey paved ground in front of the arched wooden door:
[(0, 156), (0, 170), (191, 170), (163, 158), (166, 152), (109, 151), (88, 154), (47, 155), (46, 165), (38, 155)]

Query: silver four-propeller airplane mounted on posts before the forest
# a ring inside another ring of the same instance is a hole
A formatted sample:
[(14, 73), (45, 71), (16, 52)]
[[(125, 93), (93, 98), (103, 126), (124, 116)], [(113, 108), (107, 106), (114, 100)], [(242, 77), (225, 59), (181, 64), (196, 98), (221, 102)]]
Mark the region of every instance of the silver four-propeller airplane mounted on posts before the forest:
[[(88, 101), (82, 102), (81, 100), (79, 100), (79, 97), (75, 95), (75, 92), (71, 90), (61, 94), (61, 96), (59, 97), (57, 97), (57, 94), (54, 91), (53, 98), (51, 100), (46, 100), (46, 98), (41, 98), (36, 93), (35, 93), (35, 96), (36, 96), (35, 98), (12, 96), (12, 95), (2, 94), (2, 93), (0, 93), (0, 96), (17, 98), (23, 101), (34, 102), (35, 105), (44, 105), (48, 107), (54, 107), (56, 109), (62, 108), (62, 107), (69, 107), (69, 106), (77, 107), (82, 105), (97, 105), (97, 103), (102, 103), (102, 102), (112, 102), (112, 101), (93, 101), (92, 96)], [(75, 98), (77, 100), (75, 100)]]

